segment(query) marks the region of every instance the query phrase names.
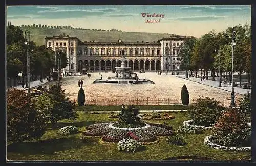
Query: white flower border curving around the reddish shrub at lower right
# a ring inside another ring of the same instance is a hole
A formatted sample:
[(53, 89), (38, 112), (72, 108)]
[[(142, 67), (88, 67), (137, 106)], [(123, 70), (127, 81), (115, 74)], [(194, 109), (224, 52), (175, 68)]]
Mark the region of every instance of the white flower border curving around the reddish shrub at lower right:
[(216, 143), (211, 142), (211, 139), (214, 137), (215, 135), (210, 135), (210, 136), (206, 136), (204, 139), (204, 143), (212, 148), (215, 149), (221, 149), (221, 150), (232, 150), (232, 151), (250, 151), (251, 147), (226, 147), (226, 146), (222, 146), (222, 145), (218, 145)]

